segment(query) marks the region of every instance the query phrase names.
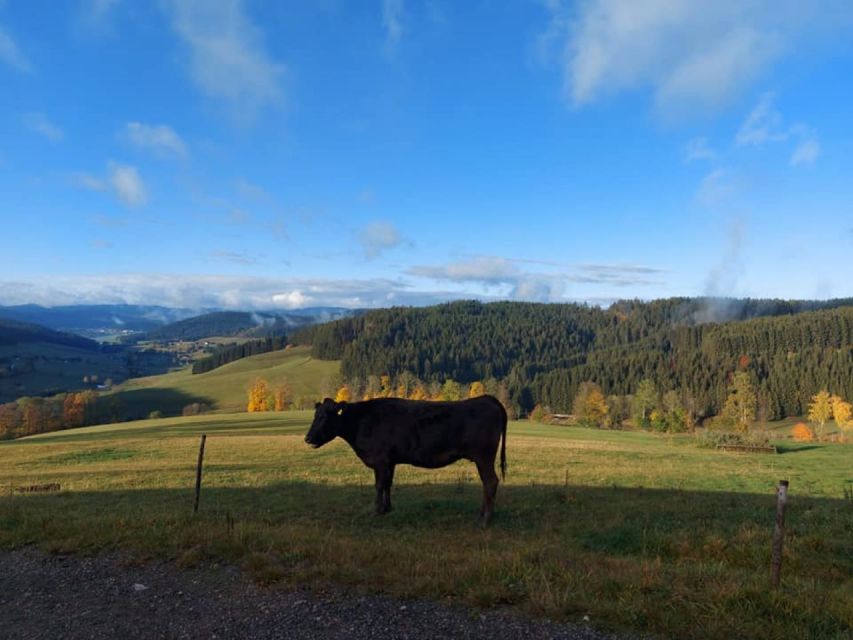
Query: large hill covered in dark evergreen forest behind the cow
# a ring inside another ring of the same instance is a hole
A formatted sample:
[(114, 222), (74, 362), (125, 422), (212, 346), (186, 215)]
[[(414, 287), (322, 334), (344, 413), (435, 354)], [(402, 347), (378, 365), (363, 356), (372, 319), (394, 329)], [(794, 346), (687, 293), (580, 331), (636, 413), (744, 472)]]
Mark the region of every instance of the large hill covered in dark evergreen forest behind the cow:
[(768, 418), (801, 415), (822, 388), (853, 397), (853, 299), (457, 302), (392, 308), (294, 334), (341, 359), (348, 380), (502, 380), (522, 410), (569, 411), (580, 383), (632, 394), (644, 378), (697, 416), (719, 412), (733, 372), (750, 374)]

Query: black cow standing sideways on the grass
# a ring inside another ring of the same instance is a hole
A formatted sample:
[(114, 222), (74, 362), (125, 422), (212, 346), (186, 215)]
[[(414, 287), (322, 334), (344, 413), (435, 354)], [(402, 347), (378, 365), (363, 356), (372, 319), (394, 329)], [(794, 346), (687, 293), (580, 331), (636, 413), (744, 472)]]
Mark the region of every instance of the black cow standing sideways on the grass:
[(498, 476), (495, 456), (501, 444), (501, 476), (506, 473), (506, 411), (496, 398), (425, 402), (377, 398), (364, 402), (317, 403), (305, 442), (321, 447), (340, 436), (376, 476), (376, 513), (391, 510), (394, 467), (411, 464), (437, 469), (462, 458), (477, 465), (483, 481), (480, 519), (489, 523)]

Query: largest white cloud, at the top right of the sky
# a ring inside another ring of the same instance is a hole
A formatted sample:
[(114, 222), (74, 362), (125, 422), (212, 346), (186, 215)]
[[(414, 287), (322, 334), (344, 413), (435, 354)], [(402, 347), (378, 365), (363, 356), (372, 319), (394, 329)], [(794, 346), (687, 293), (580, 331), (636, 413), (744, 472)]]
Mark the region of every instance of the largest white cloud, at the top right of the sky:
[[(543, 42), (562, 50), (566, 97), (576, 106), (651, 89), (659, 110), (716, 108), (806, 36), (847, 27), (835, 0), (706, 2), (591, 0), (548, 3)], [(815, 38), (818, 40), (818, 38)]]

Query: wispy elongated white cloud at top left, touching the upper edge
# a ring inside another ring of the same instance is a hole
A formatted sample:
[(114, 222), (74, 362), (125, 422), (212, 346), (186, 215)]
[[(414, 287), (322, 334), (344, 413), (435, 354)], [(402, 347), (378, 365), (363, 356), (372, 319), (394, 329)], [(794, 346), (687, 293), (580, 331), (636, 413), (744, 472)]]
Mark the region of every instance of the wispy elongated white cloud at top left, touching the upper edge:
[(224, 100), (243, 121), (282, 102), (284, 66), (263, 47), (263, 34), (241, 0), (170, 0), (172, 27), (189, 50), (189, 74), (205, 94)]

